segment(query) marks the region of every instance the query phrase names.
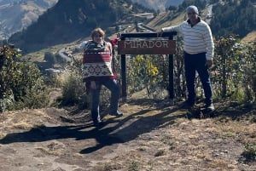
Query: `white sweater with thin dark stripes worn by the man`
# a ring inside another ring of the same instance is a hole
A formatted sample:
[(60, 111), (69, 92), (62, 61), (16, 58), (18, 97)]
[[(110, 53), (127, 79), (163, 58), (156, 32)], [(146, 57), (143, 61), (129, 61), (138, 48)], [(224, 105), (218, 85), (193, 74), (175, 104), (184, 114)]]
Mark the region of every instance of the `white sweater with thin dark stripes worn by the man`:
[(207, 53), (207, 60), (212, 60), (214, 43), (212, 31), (207, 23), (199, 18), (195, 26), (191, 26), (190, 20), (184, 21), (178, 26), (162, 28), (162, 31), (179, 31), (183, 34), (183, 48), (188, 54)]

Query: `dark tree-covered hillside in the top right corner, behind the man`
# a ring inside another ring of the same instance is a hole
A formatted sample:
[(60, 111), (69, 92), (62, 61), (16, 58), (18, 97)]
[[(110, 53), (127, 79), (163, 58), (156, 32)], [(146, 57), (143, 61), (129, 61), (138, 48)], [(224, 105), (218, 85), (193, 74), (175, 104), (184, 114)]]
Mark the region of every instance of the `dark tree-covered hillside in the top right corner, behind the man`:
[[(236, 13), (234, 13), (236, 11)], [(227, 37), (230, 34), (245, 37), (256, 28), (256, 1), (227, 1), (212, 7), (212, 33)]]

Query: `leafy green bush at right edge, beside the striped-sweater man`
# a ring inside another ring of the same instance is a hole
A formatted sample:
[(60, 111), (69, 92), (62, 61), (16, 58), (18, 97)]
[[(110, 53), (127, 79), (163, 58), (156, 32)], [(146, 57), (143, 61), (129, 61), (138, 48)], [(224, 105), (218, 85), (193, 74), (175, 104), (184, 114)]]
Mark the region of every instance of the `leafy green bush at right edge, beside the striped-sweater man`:
[(253, 102), (256, 95), (256, 46), (236, 35), (220, 37), (213, 58), (212, 85), (216, 97)]

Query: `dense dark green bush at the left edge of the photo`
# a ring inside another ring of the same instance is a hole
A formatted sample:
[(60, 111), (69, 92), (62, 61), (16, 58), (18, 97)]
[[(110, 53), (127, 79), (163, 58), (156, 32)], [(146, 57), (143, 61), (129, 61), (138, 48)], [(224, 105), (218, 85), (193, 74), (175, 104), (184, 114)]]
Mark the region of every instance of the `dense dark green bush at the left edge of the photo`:
[(0, 47), (0, 111), (44, 107), (49, 100), (40, 71), (8, 45)]

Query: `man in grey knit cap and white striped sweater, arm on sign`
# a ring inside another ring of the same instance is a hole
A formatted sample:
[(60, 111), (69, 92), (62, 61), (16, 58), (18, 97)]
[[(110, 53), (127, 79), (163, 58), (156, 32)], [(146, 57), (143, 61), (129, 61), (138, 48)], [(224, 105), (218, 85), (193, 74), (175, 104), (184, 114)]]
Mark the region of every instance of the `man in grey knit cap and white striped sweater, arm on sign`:
[(195, 71), (199, 74), (205, 94), (205, 107), (213, 111), (212, 104), (212, 83), (208, 68), (212, 66), (214, 43), (210, 26), (199, 16), (197, 7), (194, 5), (186, 9), (188, 20), (177, 26), (161, 28), (158, 31), (160, 36), (163, 32), (177, 31), (183, 35), (184, 67), (186, 86), (188, 90), (187, 100), (184, 106), (195, 105)]

